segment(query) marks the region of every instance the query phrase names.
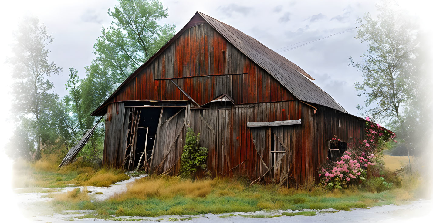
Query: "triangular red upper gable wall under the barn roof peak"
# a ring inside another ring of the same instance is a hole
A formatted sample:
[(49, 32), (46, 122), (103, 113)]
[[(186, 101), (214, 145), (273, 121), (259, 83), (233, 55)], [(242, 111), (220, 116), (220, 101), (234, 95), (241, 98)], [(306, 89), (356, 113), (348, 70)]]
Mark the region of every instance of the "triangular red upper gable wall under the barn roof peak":
[(111, 100), (188, 100), (170, 80), (213, 74), (239, 74), (174, 81), (197, 103), (204, 104), (220, 94), (234, 103), (271, 102), (295, 99), (275, 78), (231, 45), (209, 24), (187, 29), (132, 79)]

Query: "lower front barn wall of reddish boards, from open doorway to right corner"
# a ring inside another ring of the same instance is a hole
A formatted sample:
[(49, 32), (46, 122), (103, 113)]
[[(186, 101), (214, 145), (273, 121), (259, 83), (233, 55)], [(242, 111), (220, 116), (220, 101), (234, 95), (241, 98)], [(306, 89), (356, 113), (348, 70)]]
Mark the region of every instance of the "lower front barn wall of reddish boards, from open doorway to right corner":
[[(271, 167), (270, 131), (268, 127), (249, 128), (246, 124), (300, 119), (301, 106), (299, 101), (293, 100), (223, 108), (218, 107), (217, 103), (211, 103), (210, 109), (191, 110), (191, 127), (200, 133), (200, 146), (209, 149), (207, 167), (213, 176), (231, 176), (238, 172), (255, 180), (264, 175)], [(279, 171), (288, 171), (287, 166), (294, 162), (295, 157), (292, 156), (305, 150), (308, 144), (301, 142), (302, 137), (297, 136), (304, 131), (302, 125), (278, 128), (281, 129), (276, 134), (290, 150), (281, 160), (284, 165)], [(297, 165), (304, 165), (304, 160), (299, 160)], [(301, 175), (296, 177), (304, 180)], [(269, 171), (263, 181), (271, 182), (273, 178), (273, 171)], [(279, 181), (279, 177), (274, 180)]]

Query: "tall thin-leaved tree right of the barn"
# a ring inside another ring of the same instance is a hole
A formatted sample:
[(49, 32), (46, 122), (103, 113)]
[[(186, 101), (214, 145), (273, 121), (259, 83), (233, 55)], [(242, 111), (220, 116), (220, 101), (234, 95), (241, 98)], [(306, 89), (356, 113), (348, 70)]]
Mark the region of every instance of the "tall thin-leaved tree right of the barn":
[[(355, 39), (366, 42), (368, 50), (355, 62), (350, 57), (351, 66), (362, 72), (364, 80), (355, 83), (358, 96), (365, 95), (365, 107), (360, 107), (363, 115), (373, 120), (398, 123), (401, 138), (407, 139), (407, 125), (404, 110), (414, 99), (416, 70), (414, 53), (417, 45), (417, 24), (397, 9), (396, 5), (382, 2), (377, 5), (378, 16), (373, 19), (367, 13)], [(407, 146), (409, 157), (409, 147)]]

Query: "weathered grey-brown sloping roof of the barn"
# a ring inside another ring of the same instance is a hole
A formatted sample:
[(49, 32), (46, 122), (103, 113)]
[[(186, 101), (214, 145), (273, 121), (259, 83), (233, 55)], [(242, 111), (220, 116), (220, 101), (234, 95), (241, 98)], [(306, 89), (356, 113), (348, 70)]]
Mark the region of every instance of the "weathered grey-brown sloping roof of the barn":
[[(200, 16), (201, 18), (198, 18)], [(172, 39), (170, 39), (158, 52), (155, 53), (148, 61), (134, 71), (125, 81), (114, 91), (114, 93), (98, 107), (92, 115), (103, 115), (102, 108), (105, 107), (117, 92), (123, 88), (129, 81), (134, 78), (139, 71), (145, 68), (155, 57), (167, 48), (180, 34), (193, 26), (203, 24), (203, 19), (209, 23), (217, 32), (226, 38), (233, 46), (239, 49), (243, 54), (249, 57), (257, 65), (271, 74), (278, 82), (287, 88), (297, 99), (310, 103), (316, 103), (326, 107), (348, 113), (339, 103), (337, 103), (329, 94), (320, 89), (312, 81), (314, 80), (307, 72), (289, 61), (287, 58), (279, 55), (277, 52), (266, 47), (256, 39), (245, 33), (233, 28), (225, 23), (222, 23), (210, 16), (197, 11), (191, 20), (179, 31)]]

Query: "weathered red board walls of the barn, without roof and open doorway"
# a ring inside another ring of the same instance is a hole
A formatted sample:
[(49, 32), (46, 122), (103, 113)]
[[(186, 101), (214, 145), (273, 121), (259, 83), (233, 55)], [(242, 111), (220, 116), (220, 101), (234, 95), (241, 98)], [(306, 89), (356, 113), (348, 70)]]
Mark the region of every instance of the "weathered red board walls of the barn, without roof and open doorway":
[[(158, 133), (158, 138), (170, 138), (171, 141), (158, 142), (158, 151), (151, 164), (153, 171), (177, 172), (188, 125), (200, 133), (200, 146), (209, 149), (207, 166), (213, 176), (231, 176), (238, 172), (252, 181), (287, 181), (289, 185), (317, 181), (317, 167), (326, 161), (326, 139), (334, 135), (349, 143), (364, 139), (364, 121), (317, 105), (314, 105), (317, 107), (314, 113), (312, 107), (296, 100), (275, 78), (255, 65), (209, 24), (183, 32), (110, 102), (188, 100), (171, 80), (156, 79), (213, 74), (233, 75), (172, 80), (200, 105), (223, 93), (232, 97), (234, 104), (220, 107), (211, 103), (209, 109), (186, 109), (182, 113), (184, 119), (179, 116), (172, 123), (165, 123), (161, 128), (164, 133)], [(124, 153), (122, 143), (119, 144), (122, 136), (113, 130), (122, 125), (122, 120), (115, 116), (120, 106), (121, 103), (111, 103), (107, 107), (107, 118), (111, 115), (112, 121), (106, 122), (103, 162), (112, 166), (121, 166), (121, 154)], [(247, 122), (299, 118), (301, 125), (246, 127)], [(285, 151), (276, 155), (277, 163), (272, 162), (270, 155), (272, 136), (278, 139), (273, 142), (275, 151)], [(167, 148), (171, 146), (175, 149)]]

